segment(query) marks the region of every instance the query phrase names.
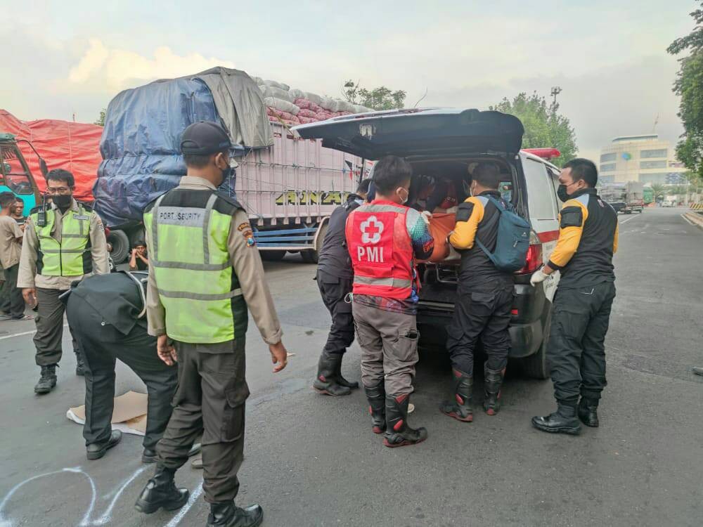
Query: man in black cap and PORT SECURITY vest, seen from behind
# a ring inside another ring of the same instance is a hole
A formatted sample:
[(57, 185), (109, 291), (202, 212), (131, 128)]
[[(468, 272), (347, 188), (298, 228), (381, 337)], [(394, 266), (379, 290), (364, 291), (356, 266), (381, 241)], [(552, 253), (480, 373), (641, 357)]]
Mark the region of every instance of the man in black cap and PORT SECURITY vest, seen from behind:
[[(231, 142), (214, 122), (188, 126), (181, 151), (188, 175), (144, 213), (149, 251), (147, 320), (167, 364), (178, 361), (174, 411), (157, 444), (157, 468), (136, 502), (150, 514), (178, 509), (188, 490), (174, 474), (202, 432), (208, 526), (257, 526), (262, 508), (236, 507), (243, 460), (247, 308), (269, 344), (274, 372), (287, 352), (247, 213), (217, 192), (229, 177)], [(203, 431), (204, 430), (204, 431)]]

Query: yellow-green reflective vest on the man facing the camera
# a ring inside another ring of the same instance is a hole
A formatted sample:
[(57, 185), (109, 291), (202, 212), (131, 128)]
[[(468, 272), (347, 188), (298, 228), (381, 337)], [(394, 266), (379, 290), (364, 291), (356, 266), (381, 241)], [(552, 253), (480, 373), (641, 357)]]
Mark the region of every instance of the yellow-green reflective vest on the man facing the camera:
[(78, 212), (71, 209), (61, 221), (61, 242), (51, 238), (56, 221), (54, 210), (46, 211), (46, 225), (40, 227), (38, 209), (32, 209), (32, 225), (39, 240), (37, 274), (44, 276), (81, 276), (93, 272), (90, 242), (90, 214), (92, 209), (78, 204)]

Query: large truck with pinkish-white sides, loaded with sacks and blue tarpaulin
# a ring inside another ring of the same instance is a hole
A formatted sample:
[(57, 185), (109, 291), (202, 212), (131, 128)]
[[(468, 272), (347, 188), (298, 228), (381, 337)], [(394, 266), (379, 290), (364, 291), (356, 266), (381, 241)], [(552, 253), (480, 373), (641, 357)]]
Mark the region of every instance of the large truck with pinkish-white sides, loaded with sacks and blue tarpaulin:
[(235, 176), (220, 190), (247, 210), (262, 256), (300, 252), (315, 263), (330, 214), (371, 164), (302, 139), (290, 126), (366, 110), (226, 68), (119, 93), (105, 115), (103, 162), (93, 187), (96, 211), (110, 228), (112, 258), (127, 258), (143, 238), (146, 205), (186, 174), (183, 129), (210, 120), (223, 124), (234, 144)]

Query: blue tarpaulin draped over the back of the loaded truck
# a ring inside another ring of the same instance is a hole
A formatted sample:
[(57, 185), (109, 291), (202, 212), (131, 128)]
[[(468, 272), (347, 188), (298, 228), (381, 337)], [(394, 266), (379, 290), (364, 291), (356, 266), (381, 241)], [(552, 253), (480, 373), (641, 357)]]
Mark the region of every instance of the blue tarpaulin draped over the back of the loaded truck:
[[(178, 185), (186, 174), (181, 134), (198, 121), (225, 124), (207, 84), (195, 77), (152, 82), (110, 101), (93, 187), (96, 212), (108, 226), (140, 222), (147, 204)], [(236, 145), (233, 155), (243, 150)], [(221, 190), (233, 195), (234, 178)]]

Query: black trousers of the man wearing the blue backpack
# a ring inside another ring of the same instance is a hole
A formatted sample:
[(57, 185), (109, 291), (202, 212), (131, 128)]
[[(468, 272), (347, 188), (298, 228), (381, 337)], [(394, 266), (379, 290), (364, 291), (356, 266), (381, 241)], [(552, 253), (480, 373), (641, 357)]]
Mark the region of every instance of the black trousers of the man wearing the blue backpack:
[(513, 297), (512, 283), (504, 280), (459, 284), (446, 340), (456, 370), (473, 375), (474, 350), (479, 339), (486, 353), (486, 367), (498, 371), (508, 364)]

